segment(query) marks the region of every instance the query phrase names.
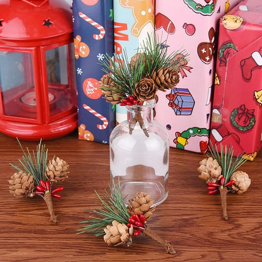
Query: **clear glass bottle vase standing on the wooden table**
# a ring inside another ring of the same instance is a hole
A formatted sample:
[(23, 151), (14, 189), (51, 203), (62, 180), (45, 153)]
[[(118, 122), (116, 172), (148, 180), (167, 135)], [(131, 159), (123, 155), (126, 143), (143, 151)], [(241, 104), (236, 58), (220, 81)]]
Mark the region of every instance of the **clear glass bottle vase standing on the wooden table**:
[(168, 196), (169, 138), (153, 120), (155, 100), (126, 106), (127, 120), (110, 136), (111, 182), (120, 182), (125, 204), (136, 193), (145, 192), (154, 206)]

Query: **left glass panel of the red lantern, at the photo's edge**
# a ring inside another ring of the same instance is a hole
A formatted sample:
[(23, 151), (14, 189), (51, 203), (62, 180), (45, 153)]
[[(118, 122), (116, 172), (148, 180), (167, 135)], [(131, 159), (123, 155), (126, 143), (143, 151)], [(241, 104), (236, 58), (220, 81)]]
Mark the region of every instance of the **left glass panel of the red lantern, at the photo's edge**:
[(0, 90), (3, 114), (36, 119), (32, 55), (0, 51)]

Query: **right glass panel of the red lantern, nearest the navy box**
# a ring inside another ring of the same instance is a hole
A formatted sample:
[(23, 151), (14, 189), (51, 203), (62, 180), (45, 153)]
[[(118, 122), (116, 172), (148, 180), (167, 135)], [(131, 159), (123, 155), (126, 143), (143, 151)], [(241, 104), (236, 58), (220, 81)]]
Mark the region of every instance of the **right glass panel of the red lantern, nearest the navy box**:
[(75, 108), (76, 91), (73, 77), (71, 44), (47, 50), (46, 68), (50, 116)]

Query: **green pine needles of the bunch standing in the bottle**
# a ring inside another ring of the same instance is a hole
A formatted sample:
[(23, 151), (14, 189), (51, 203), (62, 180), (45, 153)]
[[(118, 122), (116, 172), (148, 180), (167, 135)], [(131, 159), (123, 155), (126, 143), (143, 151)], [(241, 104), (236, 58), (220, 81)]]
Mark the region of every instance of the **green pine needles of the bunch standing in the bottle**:
[[(176, 71), (179, 70), (183, 66), (181, 60), (188, 61), (188, 54), (186, 54), (185, 50), (178, 50), (168, 55), (168, 49), (163, 47), (163, 44), (157, 36), (147, 33), (146, 40), (137, 49), (137, 54), (144, 53), (145, 63), (144, 59), (142, 59), (141, 61), (137, 61), (132, 68), (126, 49), (123, 49), (120, 55), (115, 53), (114, 58), (106, 54), (105, 59), (100, 61), (99, 64), (103, 65), (102, 71), (115, 82), (116, 88), (100, 88), (102, 90), (124, 93), (126, 96), (133, 95), (135, 85), (145, 77), (151, 78), (153, 70), (161, 67), (170, 67)], [(182, 54), (182, 57), (176, 58), (177, 54)], [(108, 96), (112, 95), (109, 94)], [(117, 96), (120, 97), (119, 95)]]

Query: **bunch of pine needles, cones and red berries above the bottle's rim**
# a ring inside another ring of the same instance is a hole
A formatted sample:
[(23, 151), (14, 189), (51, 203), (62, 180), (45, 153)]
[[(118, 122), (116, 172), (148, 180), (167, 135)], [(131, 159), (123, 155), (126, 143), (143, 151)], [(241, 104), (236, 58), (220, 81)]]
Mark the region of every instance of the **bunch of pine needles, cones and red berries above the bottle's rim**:
[(107, 102), (120, 106), (141, 106), (155, 98), (157, 90), (173, 89), (179, 82), (179, 69), (188, 61), (185, 50), (168, 55), (167, 46), (157, 36), (147, 35), (137, 53), (130, 59), (108, 54), (99, 62), (106, 74), (99, 85)]

